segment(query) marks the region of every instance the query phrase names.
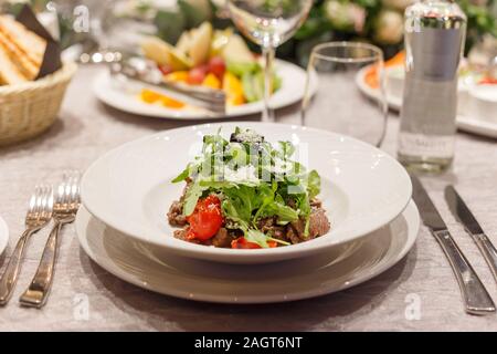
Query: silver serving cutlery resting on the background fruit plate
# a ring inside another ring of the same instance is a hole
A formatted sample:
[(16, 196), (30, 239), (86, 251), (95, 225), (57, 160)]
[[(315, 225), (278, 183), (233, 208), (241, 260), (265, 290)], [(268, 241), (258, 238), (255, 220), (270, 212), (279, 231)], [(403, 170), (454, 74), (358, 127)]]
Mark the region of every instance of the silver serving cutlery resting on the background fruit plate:
[(165, 81), (161, 71), (147, 59), (123, 54), (121, 59), (112, 63), (109, 67), (110, 75), (117, 81), (139, 82), (175, 100), (202, 107), (214, 115), (226, 112), (226, 94), (222, 90)]

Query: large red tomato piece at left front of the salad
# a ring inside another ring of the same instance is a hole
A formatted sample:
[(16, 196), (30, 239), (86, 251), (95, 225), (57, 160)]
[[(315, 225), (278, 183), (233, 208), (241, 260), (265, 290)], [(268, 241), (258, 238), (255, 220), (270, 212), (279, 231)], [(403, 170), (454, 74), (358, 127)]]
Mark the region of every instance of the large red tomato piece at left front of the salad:
[(187, 221), (190, 223), (188, 239), (205, 241), (213, 238), (223, 225), (221, 201), (214, 195), (200, 199)]

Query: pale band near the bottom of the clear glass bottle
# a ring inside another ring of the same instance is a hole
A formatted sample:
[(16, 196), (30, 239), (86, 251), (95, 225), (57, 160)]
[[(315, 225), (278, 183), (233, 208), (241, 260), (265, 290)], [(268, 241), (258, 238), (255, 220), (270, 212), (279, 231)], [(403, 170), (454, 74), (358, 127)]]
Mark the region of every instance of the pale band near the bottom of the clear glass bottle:
[(431, 158), (452, 158), (455, 137), (453, 135), (425, 135), (401, 132), (399, 134), (399, 153)]

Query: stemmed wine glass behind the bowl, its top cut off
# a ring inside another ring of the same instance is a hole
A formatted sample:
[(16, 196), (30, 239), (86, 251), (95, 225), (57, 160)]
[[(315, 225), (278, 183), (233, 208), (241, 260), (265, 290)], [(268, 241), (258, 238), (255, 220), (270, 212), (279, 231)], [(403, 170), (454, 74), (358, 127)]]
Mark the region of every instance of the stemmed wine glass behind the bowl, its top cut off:
[(228, 9), (236, 28), (263, 50), (265, 77), (263, 122), (274, 122), (269, 98), (276, 48), (298, 30), (311, 6), (313, 0), (228, 1)]

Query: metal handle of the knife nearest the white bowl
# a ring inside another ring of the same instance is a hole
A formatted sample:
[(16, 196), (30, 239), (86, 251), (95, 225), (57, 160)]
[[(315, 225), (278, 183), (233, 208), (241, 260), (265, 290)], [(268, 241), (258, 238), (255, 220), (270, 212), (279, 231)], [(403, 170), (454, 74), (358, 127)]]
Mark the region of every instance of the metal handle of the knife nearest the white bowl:
[(491, 301), (484, 284), (457, 247), (451, 233), (447, 230), (432, 231), (432, 233), (451, 262), (457, 282), (459, 283), (466, 312), (478, 315), (495, 312), (494, 301)]

